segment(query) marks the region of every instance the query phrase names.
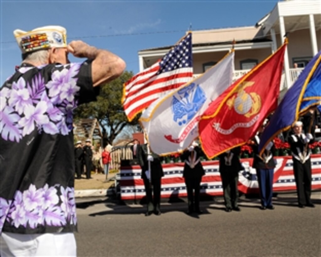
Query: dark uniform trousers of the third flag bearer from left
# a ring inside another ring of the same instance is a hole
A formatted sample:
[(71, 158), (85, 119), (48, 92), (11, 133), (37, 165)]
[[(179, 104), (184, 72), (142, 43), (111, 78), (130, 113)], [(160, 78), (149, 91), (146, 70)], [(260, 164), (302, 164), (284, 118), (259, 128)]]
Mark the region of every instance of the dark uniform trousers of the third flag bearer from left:
[(231, 170), (223, 170), (220, 172), (222, 185), (223, 185), (223, 195), (224, 203), (227, 208), (233, 208), (238, 206), (239, 200), (239, 172)]

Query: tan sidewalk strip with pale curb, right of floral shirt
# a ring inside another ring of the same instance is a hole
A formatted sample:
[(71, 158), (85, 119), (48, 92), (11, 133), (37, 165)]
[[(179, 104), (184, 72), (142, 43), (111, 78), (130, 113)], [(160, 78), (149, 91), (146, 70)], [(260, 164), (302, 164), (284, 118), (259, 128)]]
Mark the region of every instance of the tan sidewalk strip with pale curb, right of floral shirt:
[(114, 194), (116, 174), (109, 173), (106, 180), (105, 174), (91, 173), (91, 178), (75, 179), (75, 197), (106, 196)]

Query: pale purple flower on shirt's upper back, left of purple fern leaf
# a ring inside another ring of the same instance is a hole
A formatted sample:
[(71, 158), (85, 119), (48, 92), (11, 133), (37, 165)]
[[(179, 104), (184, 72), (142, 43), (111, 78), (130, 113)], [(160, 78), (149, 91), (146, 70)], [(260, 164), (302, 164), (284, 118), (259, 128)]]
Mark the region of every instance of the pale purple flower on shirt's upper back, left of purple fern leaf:
[(21, 115), (25, 106), (32, 105), (30, 94), (26, 86), (26, 81), (21, 77), (17, 82), (12, 83), (12, 90), (8, 104)]

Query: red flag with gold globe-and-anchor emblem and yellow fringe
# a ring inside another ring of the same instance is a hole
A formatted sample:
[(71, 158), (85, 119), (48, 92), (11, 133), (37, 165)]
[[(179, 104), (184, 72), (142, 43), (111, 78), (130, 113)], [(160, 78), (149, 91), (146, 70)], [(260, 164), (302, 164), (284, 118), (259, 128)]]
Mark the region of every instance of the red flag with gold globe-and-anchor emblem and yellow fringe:
[(199, 121), (199, 135), (208, 158), (255, 136), (277, 107), (287, 42), (216, 98)]

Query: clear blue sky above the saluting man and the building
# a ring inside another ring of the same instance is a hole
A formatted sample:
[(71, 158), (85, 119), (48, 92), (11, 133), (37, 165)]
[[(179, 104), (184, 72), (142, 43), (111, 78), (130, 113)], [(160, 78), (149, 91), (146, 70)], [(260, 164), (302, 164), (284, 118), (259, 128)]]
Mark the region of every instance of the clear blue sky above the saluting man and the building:
[(1, 84), (21, 63), (14, 29), (63, 26), (68, 42), (80, 39), (108, 49), (125, 60), (126, 70), (137, 73), (138, 51), (175, 44), (190, 24), (192, 30), (252, 26), (277, 2), (1, 0)]

